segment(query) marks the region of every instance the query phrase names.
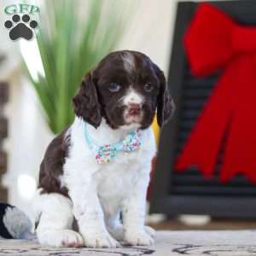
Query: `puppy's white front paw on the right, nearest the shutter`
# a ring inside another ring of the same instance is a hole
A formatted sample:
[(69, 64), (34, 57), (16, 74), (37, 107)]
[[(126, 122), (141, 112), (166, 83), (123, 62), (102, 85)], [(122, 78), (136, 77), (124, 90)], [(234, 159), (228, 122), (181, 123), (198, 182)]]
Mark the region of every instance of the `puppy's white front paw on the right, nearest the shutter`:
[(124, 237), (125, 244), (132, 246), (153, 245), (154, 240), (145, 230), (126, 230)]

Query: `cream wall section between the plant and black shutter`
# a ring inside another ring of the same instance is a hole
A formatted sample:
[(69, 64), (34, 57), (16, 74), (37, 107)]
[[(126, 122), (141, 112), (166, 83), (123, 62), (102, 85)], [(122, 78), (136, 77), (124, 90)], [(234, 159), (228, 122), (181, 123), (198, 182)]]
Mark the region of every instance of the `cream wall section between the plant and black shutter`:
[(142, 51), (167, 73), (177, 1), (141, 0), (137, 3), (134, 19), (118, 49)]

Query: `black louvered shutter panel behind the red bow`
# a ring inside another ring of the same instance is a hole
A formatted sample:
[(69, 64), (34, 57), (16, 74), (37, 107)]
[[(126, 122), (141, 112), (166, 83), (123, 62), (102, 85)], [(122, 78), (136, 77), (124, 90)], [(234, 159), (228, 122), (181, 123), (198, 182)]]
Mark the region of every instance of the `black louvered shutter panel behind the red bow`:
[[(211, 4), (223, 9), (241, 24), (256, 24), (255, 0), (211, 1)], [(183, 35), (197, 6), (195, 1), (177, 4), (168, 75), (177, 111), (160, 134), (150, 212), (168, 213), (169, 216), (189, 213), (209, 214), (218, 218), (256, 218), (256, 185), (249, 183), (244, 176), (233, 177), (229, 183), (219, 182), (225, 138), (212, 178), (203, 177), (196, 166), (185, 172), (176, 172), (174, 168), (177, 155), (221, 77), (221, 71), (218, 71), (204, 78), (196, 78), (189, 69)]]

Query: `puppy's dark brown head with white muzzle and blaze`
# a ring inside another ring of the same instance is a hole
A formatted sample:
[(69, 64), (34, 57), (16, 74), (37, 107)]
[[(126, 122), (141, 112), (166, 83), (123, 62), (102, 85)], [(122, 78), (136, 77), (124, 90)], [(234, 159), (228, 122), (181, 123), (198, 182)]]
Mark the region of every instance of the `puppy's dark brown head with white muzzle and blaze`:
[(97, 128), (104, 117), (113, 129), (145, 129), (156, 109), (161, 126), (174, 109), (160, 68), (148, 56), (128, 50), (107, 55), (87, 73), (73, 105), (90, 125)]

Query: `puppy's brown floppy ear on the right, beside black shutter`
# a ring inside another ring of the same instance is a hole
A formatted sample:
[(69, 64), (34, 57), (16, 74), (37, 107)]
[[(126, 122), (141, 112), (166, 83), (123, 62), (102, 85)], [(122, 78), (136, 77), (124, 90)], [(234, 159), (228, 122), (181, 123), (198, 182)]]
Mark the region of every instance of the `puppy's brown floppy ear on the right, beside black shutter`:
[(158, 125), (162, 126), (172, 117), (172, 113), (174, 113), (175, 110), (175, 104), (168, 91), (164, 73), (156, 65), (154, 67), (158, 79), (160, 80), (160, 90), (157, 96), (157, 122)]

